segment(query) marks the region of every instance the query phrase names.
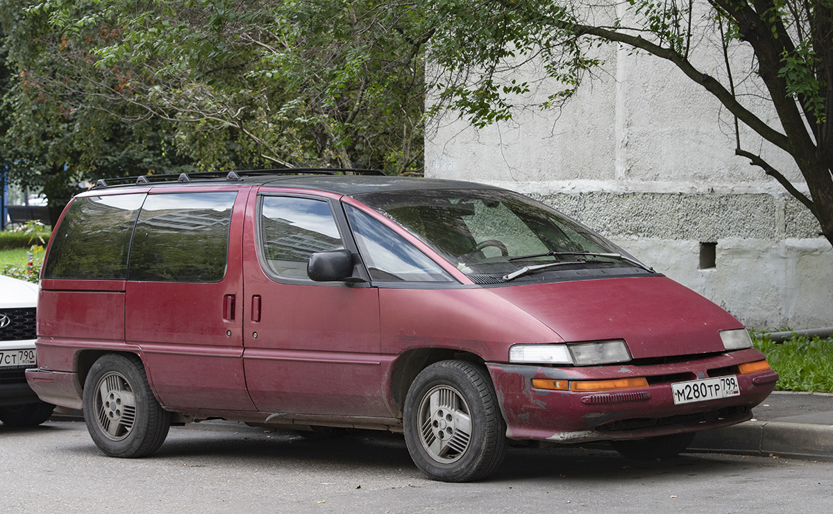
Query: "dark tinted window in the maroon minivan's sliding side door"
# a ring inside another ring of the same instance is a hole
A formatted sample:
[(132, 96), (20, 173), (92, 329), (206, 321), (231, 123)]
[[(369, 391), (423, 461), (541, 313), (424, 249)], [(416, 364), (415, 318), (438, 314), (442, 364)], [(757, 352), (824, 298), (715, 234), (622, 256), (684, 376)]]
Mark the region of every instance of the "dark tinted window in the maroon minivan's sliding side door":
[(147, 195), (130, 250), (130, 280), (218, 282), (226, 274), (237, 193)]

